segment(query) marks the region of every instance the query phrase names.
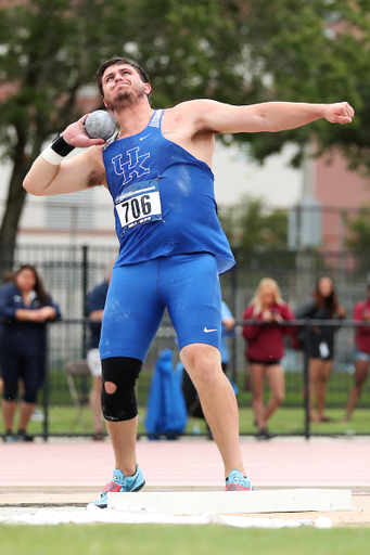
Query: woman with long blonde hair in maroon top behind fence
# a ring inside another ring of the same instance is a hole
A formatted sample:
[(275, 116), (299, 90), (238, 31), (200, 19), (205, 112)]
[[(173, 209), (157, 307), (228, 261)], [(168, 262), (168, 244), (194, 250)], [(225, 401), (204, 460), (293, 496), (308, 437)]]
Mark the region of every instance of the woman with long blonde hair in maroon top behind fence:
[[(275, 280), (265, 278), (243, 313), (243, 320), (255, 320), (270, 325), (244, 325), (247, 341), (245, 357), (250, 363), (253, 391), (253, 410), (258, 427), (257, 437), (268, 439), (267, 422), (284, 399), (284, 374), (280, 360), (284, 354), (283, 336), (289, 328), (279, 326), (284, 320), (295, 320), (283, 302)], [(264, 404), (264, 380), (267, 378), (271, 397)]]

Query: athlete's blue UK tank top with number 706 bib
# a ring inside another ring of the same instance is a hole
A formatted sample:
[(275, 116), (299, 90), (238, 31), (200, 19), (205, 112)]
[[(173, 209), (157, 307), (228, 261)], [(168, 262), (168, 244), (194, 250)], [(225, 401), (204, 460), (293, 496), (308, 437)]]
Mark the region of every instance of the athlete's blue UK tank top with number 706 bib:
[(235, 261), (217, 218), (213, 172), (163, 137), (162, 115), (154, 112), (143, 131), (103, 150), (119, 240), (115, 266), (210, 253), (221, 274)]

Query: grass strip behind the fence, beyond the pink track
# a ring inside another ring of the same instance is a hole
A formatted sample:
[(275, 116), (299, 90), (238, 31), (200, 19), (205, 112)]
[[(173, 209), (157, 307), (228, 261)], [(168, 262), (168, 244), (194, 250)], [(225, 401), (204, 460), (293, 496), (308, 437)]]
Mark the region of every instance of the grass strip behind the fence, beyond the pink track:
[[(139, 433), (143, 434), (145, 403), (150, 387), (152, 373), (142, 372), (138, 380), (138, 402), (140, 405), (140, 425)], [(253, 426), (254, 415), (251, 409), (252, 393), (245, 391), (245, 376), (243, 373), (238, 375), (238, 403), (240, 406), (240, 433), (242, 435), (255, 434)], [(354, 412), (353, 420), (349, 423), (343, 422), (345, 406), (348, 398), (348, 391), (353, 383), (353, 376), (334, 372), (329, 382), (328, 388), (328, 411), (327, 414), (331, 418), (329, 423), (314, 423), (311, 425), (311, 434), (328, 435), (353, 435), (353, 434), (370, 434), (369, 408), (370, 408), (370, 379), (366, 385), (359, 408)], [(90, 379), (76, 382), (78, 390), (84, 393), (87, 401), (90, 389)], [(52, 372), (50, 375), (50, 410), (49, 410), (49, 433), (51, 435), (66, 434), (91, 434), (92, 421), (89, 406), (84, 405), (84, 421), (86, 428), (77, 423), (74, 425), (76, 410), (72, 405), (72, 398), (67, 387), (64, 372)], [(304, 434), (305, 430), (305, 413), (302, 400), (303, 376), (299, 372), (285, 373), (285, 400), (283, 405), (276, 412), (269, 423), (271, 434), (296, 435)], [(41, 392), (42, 393), (42, 392)], [(39, 396), (40, 406), (42, 405), (42, 395)], [(199, 426), (201, 433), (206, 433), (204, 421), (190, 420), (187, 426), (187, 433), (191, 434), (193, 426)], [(31, 422), (29, 431), (31, 434), (42, 434), (43, 427), (40, 422)], [(0, 417), (0, 434), (2, 434), (3, 424)]]

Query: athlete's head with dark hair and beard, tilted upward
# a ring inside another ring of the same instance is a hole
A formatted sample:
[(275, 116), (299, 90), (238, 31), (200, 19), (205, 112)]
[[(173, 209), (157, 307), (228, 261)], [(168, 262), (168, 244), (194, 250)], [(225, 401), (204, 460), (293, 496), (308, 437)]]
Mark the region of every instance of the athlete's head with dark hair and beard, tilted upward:
[(105, 104), (113, 111), (129, 107), (150, 92), (146, 91), (149, 85), (129, 65), (109, 67), (103, 75), (102, 85)]

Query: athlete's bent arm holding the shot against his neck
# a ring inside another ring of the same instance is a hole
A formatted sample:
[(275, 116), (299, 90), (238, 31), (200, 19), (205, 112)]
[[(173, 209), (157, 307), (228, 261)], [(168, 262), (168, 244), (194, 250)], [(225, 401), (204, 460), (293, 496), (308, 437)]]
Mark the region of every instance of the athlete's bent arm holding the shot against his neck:
[[(71, 124), (63, 131), (62, 137), (71, 146), (84, 149), (105, 143), (102, 139), (88, 138), (82, 126), (86, 117), (87, 115)], [(105, 183), (105, 172), (100, 162), (100, 147), (87, 149), (67, 160), (53, 152), (50, 157), (50, 154), (46, 154), (47, 151), (50, 153), (50, 147), (36, 158), (24, 180), (23, 186), (28, 193), (36, 196), (58, 195), (84, 191), (89, 186)], [(48, 158), (52, 163), (48, 162)]]

